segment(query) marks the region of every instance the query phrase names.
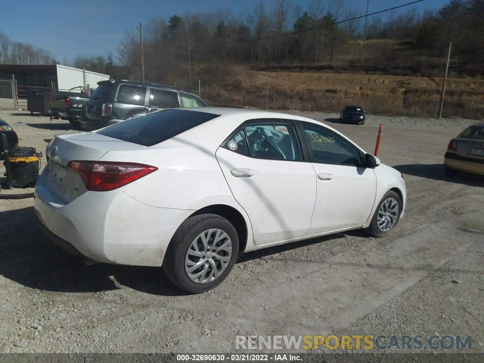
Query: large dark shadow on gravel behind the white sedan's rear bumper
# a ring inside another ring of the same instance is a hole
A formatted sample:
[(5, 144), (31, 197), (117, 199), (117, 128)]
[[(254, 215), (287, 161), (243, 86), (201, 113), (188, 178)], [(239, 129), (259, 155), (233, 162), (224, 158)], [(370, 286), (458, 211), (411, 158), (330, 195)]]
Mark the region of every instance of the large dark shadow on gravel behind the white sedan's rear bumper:
[(125, 286), (153, 295), (185, 294), (159, 267), (105, 263), (87, 266), (44, 236), (37, 227), (33, 207), (0, 212), (0, 225), (0, 275), (25, 287), (79, 293)]

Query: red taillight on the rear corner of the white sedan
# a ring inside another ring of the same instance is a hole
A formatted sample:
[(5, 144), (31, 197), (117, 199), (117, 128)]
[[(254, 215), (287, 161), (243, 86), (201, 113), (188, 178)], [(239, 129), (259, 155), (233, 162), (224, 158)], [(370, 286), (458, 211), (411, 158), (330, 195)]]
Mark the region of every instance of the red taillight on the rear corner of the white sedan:
[(158, 170), (156, 166), (137, 163), (71, 161), (67, 165), (77, 171), (86, 188), (106, 192), (129, 184)]

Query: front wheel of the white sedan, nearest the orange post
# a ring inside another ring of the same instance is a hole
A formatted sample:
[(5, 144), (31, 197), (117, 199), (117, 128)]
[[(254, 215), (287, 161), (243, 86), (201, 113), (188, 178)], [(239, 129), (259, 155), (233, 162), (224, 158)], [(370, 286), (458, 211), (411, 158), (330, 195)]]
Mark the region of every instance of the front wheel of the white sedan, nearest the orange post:
[(370, 226), (365, 229), (365, 232), (373, 237), (386, 236), (397, 225), (401, 212), (402, 200), (393, 190), (389, 190), (381, 198)]

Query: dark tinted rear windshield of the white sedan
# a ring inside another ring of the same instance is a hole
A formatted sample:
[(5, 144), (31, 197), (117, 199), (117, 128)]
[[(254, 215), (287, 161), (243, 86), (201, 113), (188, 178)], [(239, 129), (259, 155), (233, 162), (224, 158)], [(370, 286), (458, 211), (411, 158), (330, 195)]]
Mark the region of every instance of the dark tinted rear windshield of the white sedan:
[(206, 112), (168, 109), (121, 121), (97, 133), (138, 145), (152, 146), (219, 116)]

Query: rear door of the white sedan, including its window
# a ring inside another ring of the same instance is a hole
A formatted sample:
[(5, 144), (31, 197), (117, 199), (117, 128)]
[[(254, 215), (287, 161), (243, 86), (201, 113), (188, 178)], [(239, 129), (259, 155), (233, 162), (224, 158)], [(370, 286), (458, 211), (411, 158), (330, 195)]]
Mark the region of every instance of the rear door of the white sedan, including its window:
[(316, 174), (294, 122), (248, 121), (229, 136), (216, 157), (233, 196), (250, 218), (256, 244), (307, 234)]

